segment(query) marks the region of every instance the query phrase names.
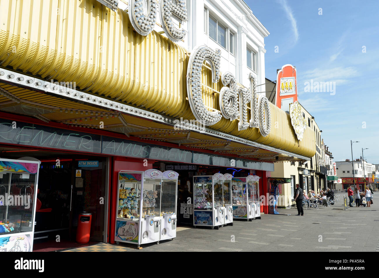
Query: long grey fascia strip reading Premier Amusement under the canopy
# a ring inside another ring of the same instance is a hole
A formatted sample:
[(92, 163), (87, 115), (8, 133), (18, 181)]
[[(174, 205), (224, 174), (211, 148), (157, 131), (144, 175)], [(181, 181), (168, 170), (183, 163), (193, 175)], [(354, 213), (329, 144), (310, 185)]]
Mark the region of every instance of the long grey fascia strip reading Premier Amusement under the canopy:
[[(234, 159), (237, 168), (274, 171), (273, 163), (268, 162), (205, 154), (23, 122), (17, 122), (16, 128), (12, 126), (11, 120), (0, 119), (0, 143), (222, 167), (229, 167), (231, 160)], [(188, 169), (194, 169), (194, 167), (188, 165)], [(175, 167), (174, 170), (176, 170)]]

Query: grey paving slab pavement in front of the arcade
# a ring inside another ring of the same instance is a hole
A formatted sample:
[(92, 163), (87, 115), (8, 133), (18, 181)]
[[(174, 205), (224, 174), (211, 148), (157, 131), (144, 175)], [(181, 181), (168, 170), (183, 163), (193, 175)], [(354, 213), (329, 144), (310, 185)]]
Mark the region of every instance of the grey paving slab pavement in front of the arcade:
[(376, 204), (343, 210), (340, 202), (319, 210), (279, 209), (291, 215), (262, 214), (262, 219), (233, 221), (233, 226), (178, 228), (174, 241), (135, 245), (126, 252), (375, 252), (379, 251), (379, 214)]

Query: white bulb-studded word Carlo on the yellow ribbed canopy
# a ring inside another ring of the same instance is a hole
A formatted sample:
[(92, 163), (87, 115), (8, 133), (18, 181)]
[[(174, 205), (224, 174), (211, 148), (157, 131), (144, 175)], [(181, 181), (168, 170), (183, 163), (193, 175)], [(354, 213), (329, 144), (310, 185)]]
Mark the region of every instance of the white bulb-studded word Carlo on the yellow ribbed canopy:
[[(221, 76), (224, 87), (219, 94), (218, 110), (210, 111), (205, 106), (202, 98), (202, 76), (201, 71), (205, 61), (210, 62), (213, 83), (219, 81), (221, 51), (213, 51), (206, 45), (196, 47), (189, 57), (187, 68), (187, 94), (191, 110), (200, 123), (211, 126), (218, 123), (222, 116), (233, 121), (240, 119), (238, 130), (248, 127), (258, 128), (263, 137), (271, 131), (271, 109), (269, 100), (265, 96), (257, 94), (257, 82), (255, 77), (250, 74), (250, 90), (241, 88), (237, 85), (235, 77), (230, 72), (225, 72)], [(229, 85), (229, 87), (226, 87)], [(247, 121), (247, 104), (251, 104), (251, 120)]]

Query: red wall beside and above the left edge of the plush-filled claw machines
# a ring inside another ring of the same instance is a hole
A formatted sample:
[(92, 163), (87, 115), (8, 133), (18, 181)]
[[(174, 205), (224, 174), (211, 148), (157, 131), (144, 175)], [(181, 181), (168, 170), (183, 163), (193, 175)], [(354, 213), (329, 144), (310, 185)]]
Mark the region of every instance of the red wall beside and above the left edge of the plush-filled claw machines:
[(147, 166), (144, 166), (143, 159), (114, 157), (112, 162), (111, 181), (110, 181), (110, 207), (109, 211), (109, 228), (108, 242), (114, 243), (114, 233), (116, 225), (116, 213), (118, 203), (118, 174), (120, 171), (146, 171), (153, 168), (154, 160), (148, 160)]

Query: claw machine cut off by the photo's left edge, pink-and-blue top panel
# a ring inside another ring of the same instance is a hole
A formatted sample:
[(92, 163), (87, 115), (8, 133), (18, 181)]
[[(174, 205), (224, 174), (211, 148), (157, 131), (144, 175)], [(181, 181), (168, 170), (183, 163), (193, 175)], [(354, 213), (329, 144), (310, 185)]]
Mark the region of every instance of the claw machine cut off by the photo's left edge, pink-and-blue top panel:
[(0, 159), (0, 252), (32, 252), (41, 162)]

